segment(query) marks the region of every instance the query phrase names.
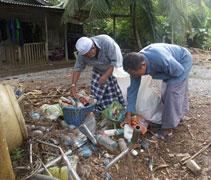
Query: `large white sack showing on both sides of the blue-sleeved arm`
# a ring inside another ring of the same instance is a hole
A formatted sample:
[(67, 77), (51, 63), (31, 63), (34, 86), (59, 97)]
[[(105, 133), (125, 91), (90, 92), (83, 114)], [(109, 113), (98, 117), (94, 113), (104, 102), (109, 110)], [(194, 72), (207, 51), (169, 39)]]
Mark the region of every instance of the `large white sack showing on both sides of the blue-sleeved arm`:
[[(127, 101), (127, 88), (130, 85), (130, 75), (123, 68), (115, 68), (113, 75), (117, 79), (125, 101)], [(155, 124), (161, 124), (162, 109), (161, 97), (152, 88), (151, 76), (142, 76), (136, 101), (136, 113), (141, 114), (145, 120)]]

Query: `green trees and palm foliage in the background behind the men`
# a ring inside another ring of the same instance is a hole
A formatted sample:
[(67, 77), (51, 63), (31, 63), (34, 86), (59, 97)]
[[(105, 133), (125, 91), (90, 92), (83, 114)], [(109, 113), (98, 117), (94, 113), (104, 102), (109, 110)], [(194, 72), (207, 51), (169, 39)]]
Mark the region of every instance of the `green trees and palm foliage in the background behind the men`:
[[(110, 15), (131, 15), (133, 2), (135, 0), (71, 0), (65, 7), (63, 20), (72, 17), (84, 23), (84, 32), (89, 36), (108, 34), (114, 37)], [(136, 25), (142, 46), (161, 42), (164, 37), (169, 41), (173, 37), (175, 44), (184, 45), (185, 35), (189, 34), (189, 42), (196, 40), (201, 48), (207, 47), (210, 6), (210, 0), (136, 0), (136, 23), (132, 24), (131, 17), (116, 18), (116, 41), (121, 47), (134, 48)]]

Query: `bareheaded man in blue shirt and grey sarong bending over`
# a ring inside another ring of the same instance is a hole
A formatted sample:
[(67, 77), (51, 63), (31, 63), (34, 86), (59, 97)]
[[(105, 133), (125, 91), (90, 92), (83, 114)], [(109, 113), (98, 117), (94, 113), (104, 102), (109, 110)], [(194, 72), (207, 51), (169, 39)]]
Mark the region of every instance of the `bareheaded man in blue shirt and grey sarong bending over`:
[(142, 75), (163, 80), (161, 99), (162, 129), (152, 139), (166, 139), (173, 135), (181, 118), (188, 112), (188, 75), (192, 67), (190, 52), (177, 45), (155, 43), (140, 52), (128, 53), (123, 59), (123, 68), (130, 74), (127, 91), (127, 113), (121, 127), (131, 123), (131, 113), (136, 112), (136, 99)]

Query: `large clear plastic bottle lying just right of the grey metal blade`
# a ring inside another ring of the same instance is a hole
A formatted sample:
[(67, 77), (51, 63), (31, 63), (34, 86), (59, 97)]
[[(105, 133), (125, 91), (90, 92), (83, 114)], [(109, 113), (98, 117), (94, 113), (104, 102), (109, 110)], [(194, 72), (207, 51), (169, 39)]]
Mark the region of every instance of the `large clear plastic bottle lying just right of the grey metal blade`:
[(115, 151), (117, 149), (117, 142), (112, 140), (109, 136), (103, 136), (102, 134), (98, 134), (96, 135), (96, 139), (100, 145), (103, 145), (111, 151)]

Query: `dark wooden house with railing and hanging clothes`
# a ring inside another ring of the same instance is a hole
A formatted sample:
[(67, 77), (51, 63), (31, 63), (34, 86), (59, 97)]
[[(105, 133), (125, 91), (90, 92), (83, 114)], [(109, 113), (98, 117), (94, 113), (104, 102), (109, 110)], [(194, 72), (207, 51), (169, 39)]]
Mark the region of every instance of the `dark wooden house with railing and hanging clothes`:
[(0, 70), (46, 64), (56, 49), (71, 58), (83, 26), (62, 24), (63, 12), (43, 0), (0, 0)]

